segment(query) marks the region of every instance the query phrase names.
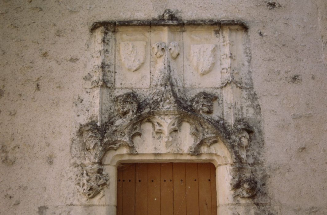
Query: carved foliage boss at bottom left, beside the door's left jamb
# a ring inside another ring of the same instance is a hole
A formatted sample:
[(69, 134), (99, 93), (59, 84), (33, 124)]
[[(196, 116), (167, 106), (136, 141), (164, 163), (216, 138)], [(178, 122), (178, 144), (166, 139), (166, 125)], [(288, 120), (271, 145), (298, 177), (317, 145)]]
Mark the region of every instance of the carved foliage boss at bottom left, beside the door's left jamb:
[(86, 167), (80, 178), (80, 191), (87, 198), (95, 197), (107, 186), (108, 174), (104, 173), (103, 166), (94, 164)]

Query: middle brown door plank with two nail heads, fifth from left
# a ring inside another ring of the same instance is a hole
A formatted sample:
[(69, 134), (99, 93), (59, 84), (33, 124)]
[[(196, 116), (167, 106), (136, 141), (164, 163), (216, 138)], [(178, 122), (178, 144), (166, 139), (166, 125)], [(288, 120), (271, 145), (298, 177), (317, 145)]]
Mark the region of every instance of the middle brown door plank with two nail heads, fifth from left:
[(160, 212), (162, 215), (173, 214), (173, 164), (160, 164)]

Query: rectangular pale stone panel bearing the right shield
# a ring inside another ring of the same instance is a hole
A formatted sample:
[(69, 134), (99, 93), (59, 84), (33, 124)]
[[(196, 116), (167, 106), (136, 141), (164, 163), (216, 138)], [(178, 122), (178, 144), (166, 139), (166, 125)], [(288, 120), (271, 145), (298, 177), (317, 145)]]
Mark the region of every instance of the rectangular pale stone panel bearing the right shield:
[(185, 27), (184, 48), (185, 87), (219, 86), (219, 27)]

